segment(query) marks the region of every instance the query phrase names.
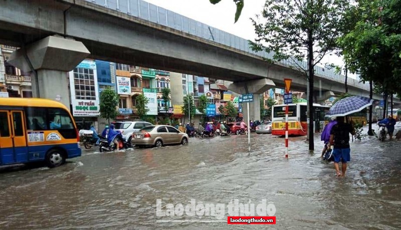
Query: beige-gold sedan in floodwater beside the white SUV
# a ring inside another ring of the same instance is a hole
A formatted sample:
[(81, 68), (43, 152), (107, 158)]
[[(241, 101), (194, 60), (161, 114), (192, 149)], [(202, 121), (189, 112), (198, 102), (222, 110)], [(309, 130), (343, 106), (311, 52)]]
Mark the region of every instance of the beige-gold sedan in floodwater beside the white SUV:
[(180, 132), (178, 129), (169, 125), (151, 125), (135, 132), (132, 144), (135, 145), (154, 145), (160, 148), (167, 144), (188, 143), (188, 134)]

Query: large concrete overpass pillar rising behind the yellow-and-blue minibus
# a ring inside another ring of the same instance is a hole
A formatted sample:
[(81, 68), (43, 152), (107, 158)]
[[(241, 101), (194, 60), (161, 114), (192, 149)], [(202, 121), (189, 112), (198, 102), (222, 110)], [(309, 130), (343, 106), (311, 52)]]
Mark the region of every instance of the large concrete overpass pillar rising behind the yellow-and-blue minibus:
[(89, 55), (83, 43), (49, 36), (13, 52), (9, 63), (32, 72), (32, 94), (63, 103), (70, 108), (68, 72)]

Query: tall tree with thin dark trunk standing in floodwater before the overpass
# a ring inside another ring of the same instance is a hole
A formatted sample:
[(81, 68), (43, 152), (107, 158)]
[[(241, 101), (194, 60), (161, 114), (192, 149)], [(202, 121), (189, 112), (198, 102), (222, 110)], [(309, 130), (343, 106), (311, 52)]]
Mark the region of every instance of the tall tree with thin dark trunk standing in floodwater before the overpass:
[[(313, 117), (314, 67), (332, 51), (341, 32), (346, 0), (266, 0), (261, 16), (252, 19), (257, 39), (254, 51), (273, 52), (269, 62), (288, 60), (308, 81), (308, 111)], [(260, 23), (261, 18), (264, 22)], [(256, 21), (258, 20), (258, 22)], [(307, 66), (301, 61), (307, 59)], [(314, 150), (313, 125), (309, 126), (309, 150)]]

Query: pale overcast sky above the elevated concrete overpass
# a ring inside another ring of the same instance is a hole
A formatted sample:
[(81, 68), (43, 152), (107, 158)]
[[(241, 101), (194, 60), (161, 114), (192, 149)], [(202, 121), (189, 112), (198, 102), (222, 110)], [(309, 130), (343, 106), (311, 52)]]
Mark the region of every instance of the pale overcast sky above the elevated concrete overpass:
[[(260, 14), (265, 3), (265, 0), (245, 1), (241, 17), (234, 24), (236, 6), (232, 0), (222, 0), (217, 5), (212, 5), (209, 0), (144, 1), (249, 40), (254, 40), (256, 37), (250, 18), (254, 18), (256, 14)], [(342, 65), (341, 59), (334, 55), (327, 55), (322, 60), (322, 63)], [(355, 78), (355, 76), (351, 77)]]

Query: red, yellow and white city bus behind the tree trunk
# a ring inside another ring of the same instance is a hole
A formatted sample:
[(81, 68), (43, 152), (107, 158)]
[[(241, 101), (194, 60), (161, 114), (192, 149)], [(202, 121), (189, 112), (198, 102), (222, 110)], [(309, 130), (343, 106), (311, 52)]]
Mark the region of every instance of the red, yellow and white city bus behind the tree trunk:
[[(272, 107), (272, 135), (285, 135), (285, 104), (274, 105)], [(322, 131), (328, 119), (325, 118), (330, 106), (313, 104), (313, 124)], [(296, 103), (288, 105), (288, 135), (305, 136), (307, 133), (307, 107), (306, 103)]]

